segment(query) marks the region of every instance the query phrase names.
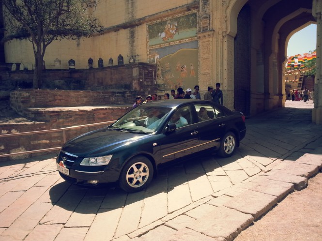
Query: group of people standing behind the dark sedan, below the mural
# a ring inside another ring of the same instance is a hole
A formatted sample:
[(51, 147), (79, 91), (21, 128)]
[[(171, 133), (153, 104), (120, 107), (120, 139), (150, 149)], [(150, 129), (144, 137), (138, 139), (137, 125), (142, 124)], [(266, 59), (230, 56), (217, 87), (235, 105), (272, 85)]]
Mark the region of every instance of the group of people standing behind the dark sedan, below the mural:
[[(201, 96), (199, 93), (199, 85), (196, 85), (194, 87), (194, 92), (192, 93), (192, 90), (190, 88), (186, 89), (184, 92), (184, 89), (179, 87), (177, 89), (177, 94), (175, 93), (175, 90), (171, 90), (170, 93), (165, 93), (163, 96), (164, 100), (169, 100), (169, 99), (197, 99), (201, 100)], [(142, 102), (142, 96), (138, 95), (135, 98), (135, 103), (133, 104), (133, 108), (137, 107), (138, 105), (150, 102), (150, 101), (156, 101), (156, 100), (161, 100), (162, 96), (153, 94), (153, 95), (148, 95), (145, 100)], [(223, 92), (220, 90), (220, 83), (216, 83), (216, 88), (214, 90), (213, 86), (208, 86), (208, 91), (204, 94), (204, 99), (205, 100), (210, 100), (214, 101), (217, 104), (223, 105), (224, 102), (224, 97), (223, 97)]]

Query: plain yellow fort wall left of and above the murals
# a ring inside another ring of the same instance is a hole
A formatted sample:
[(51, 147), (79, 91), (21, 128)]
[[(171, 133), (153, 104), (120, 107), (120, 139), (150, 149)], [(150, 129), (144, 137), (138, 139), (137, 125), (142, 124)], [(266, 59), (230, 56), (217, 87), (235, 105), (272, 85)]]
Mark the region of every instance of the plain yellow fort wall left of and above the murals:
[[(102, 0), (92, 8), (103, 26), (104, 34), (97, 34), (91, 38), (79, 41), (63, 39), (54, 41), (46, 49), (44, 57), (46, 68), (55, 69), (55, 60), (61, 60), (61, 69), (68, 69), (68, 60), (76, 61), (77, 69), (87, 69), (88, 59), (93, 59), (93, 67), (98, 67), (98, 60), (102, 58), (107, 66), (108, 60), (113, 59), (117, 64), (117, 57), (121, 54), (124, 63), (129, 63), (131, 56), (136, 60), (147, 62), (146, 24), (149, 21), (188, 11), (186, 5), (197, 5), (195, 0), (164, 0), (164, 1), (127, 1)], [(25, 66), (34, 63), (32, 45), (28, 40), (11, 40), (5, 43), (5, 61), (21, 63)]]

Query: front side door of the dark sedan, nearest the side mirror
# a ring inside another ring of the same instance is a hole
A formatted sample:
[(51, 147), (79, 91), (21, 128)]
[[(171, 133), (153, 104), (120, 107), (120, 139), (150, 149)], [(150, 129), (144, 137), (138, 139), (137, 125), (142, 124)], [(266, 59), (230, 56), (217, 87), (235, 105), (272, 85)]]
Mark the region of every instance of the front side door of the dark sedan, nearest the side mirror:
[[(173, 115), (179, 113), (180, 118), (184, 118), (187, 124), (178, 126), (173, 132), (165, 132), (163, 134), (164, 136), (160, 140), (162, 164), (174, 159), (184, 158), (187, 155), (199, 151), (199, 132), (197, 131), (198, 123), (196, 123), (196, 120), (193, 118), (191, 107), (191, 105), (186, 105), (173, 113)], [(168, 123), (171, 122), (173, 115), (169, 117), (170, 119)]]

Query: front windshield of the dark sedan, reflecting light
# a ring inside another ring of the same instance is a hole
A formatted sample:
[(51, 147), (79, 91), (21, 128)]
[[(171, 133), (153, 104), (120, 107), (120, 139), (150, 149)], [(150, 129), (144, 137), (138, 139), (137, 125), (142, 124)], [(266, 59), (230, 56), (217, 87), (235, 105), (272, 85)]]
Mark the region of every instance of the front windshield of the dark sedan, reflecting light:
[(170, 110), (171, 108), (167, 107), (139, 105), (116, 121), (111, 127), (130, 132), (153, 133), (158, 129)]

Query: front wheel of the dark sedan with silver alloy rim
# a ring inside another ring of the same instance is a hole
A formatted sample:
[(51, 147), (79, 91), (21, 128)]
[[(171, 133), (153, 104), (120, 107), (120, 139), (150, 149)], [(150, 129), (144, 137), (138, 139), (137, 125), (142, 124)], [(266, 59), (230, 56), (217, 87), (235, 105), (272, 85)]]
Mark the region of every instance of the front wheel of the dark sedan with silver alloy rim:
[(138, 192), (146, 188), (153, 178), (153, 165), (144, 156), (137, 156), (123, 167), (119, 185), (128, 193)]

